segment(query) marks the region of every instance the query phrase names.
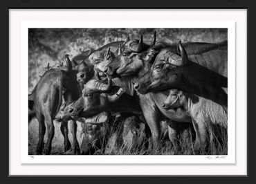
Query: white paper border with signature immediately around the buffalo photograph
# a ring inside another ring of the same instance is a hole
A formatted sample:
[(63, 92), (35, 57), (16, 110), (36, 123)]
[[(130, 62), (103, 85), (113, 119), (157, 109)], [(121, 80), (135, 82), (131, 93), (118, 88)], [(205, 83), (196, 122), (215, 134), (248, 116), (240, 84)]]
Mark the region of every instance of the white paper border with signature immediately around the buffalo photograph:
[[(159, 12), (159, 11), (158, 11)], [(15, 14), (15, 12), (13, 12)], [(49, 12), (51, 13), (51, 12)], [(93, 15), (95, 13), (102, 13), (102, 12), (91, 12)], [(103, 12), (104, 13), (104, 12)], [(145, 12), (146, 13), (146, 12)], [(107, 14), (107, 12), (106, 12)], [(148, 14), (148, 13), (147, 13)], [(107, 16), (107, 15), (105, 15)], [(156, 28), (166, 28), (166, 29), (172, 29), (172, 28), (184, 28), (184, 29), (193, 29), (193, 28), (227, 28), (227, 34), (228, 34), (228, 61), (235, 60), (235, 22), (234, 21), (211, 21), (210, 23), (208, 21), (193, 21), (192, 23), (190, 21), (182, 21), (182, 23), (176, 22), (176, 21), (150, 21), (150, 24), (156, 26)], [(86, 28), (115, 28), (117, 25), (120, 28), (123, 28), (124, 25), (127, 25), (127, 29), (131, 28), (152, 28), (147, 27), (145, 23), (142, 23), (142, 21), (138, 22), (129, 22), (124, 21), (122, 23), (121, 21), (107, 21), (107, 23), (104, 23), (104, 21), (75, 21), (71, 23), (71, 21), (65, 21), (65, 22), (57, 22), (52, 21), (50, 24), (48, 24), (47, 21), (21, 21), (21, 61), (28, 61), (28, 55), (24, 53), (28, 53), (28, 28), (80, 28), (80, 25), (86, 25)], [(113, 26), (115, 25), (115, 26)], [(165, 25), (172, 25), (170, 28), (169, 26)], [(98, 27), (97, 27), (98, 26)], [(109, 26), (109, 27), (107, 27)], [(161, 27), (163, 26), (163, 27)], [(157, 33), (158, 34), (158, 33)], [(19, 55), (19, 53), (15, 54)], [(21, 64), (18, 67), (21, 68), (21, 96), (26, 96), (24, 98), (21, 98), (21, 107), (24, 107), (25, 104), (28, 106), (28, 62), (25, 64)], [(232, 78), (235, 78), (235, 63), (228, 62), (228, 124), (229, 122), (236, 122), (235, 114), (232, 112), (235, 111), (235, 89), (236, 84), (235, 80), (232, 80)], [(26, 109), (21, 108), (21, 120), (24, 122), (28, 122), (28, 116), (26, 116)], [(21, 126), (21, 163), (27, 164), (33, 164), (33, 163), (76, 163), (76, 164), (85, 164), (85, 163), (98, 163), (98, 164), (139, 164), (139, 163), (145, 163), (145, 164), (234, 164), (235, 158), (236, 158), (236, 142), (235, 142), (235, 131), (236, 131), (237, 125), (234, 123), (230, 123), (228, 126), (228, 154), (227, 155), (219, 155), (219, 157), (225, 157), (221, 159), (213, 159), (214, 157), (217, 157), (217, 155), (212, 155), (212, 157), (208, 158), (210, 155), (147, 155), (147, 156), (139, 156), (139, 155), (92, 155), (92, 156), (76, 156), (76, 155), (51, 155), (51, 156), (44, 156), (44, 155), (35, 155), (30, 156), (28, 155), (28, 125)], [(65, 158), (68, 157), (68, 160)]]

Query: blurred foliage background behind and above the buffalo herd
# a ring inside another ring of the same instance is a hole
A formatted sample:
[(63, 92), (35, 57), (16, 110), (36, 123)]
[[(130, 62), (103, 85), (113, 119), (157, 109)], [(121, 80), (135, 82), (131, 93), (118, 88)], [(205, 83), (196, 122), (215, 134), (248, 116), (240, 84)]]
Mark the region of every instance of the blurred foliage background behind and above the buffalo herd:
[[(228, 39), (228, 29), (223, 28), (30, 28), (28, 30), (28, 93), (39, 81), (39, 75), (44, 73), (44, 67), (48, 63), (52, 66), (63, 62), (65, 54), (69, 54), (72, 59), (82, 51), (125, 40), (128, 36), (131, 39), (140, 39), (140, 35), (143, 35), (144, 42), (149, 42), (154, 30), (156, 30), (156, 42), (170, 44), (180, 40), (181, 42), (218, 43)], [(37, 127), (37, 120), (33, 120), (29, 125), (31, 151), (37, 144)], [(79, 135), (79, 125), (77, 131)], [(71, 136), (70, 140), (72, 140)], [(55, 124), (53, 149), (56, 147), (57, 151), (59, 149), (62, 151), (63, 141), (60, 125)]]

